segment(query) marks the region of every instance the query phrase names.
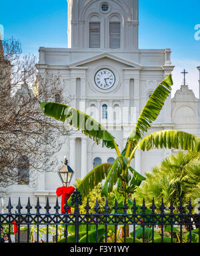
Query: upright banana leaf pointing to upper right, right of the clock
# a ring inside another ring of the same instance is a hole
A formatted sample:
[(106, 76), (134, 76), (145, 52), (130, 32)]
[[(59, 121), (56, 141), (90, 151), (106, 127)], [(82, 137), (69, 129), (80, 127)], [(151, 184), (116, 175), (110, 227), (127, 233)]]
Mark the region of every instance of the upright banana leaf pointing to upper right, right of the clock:
[(127, 144), (122, 154), (125, 154), (127, 151), (129, 142), (131, 142), (130, 151), (132, 151), (137, 141), (143, 137), (144, 132), (147, 132), (147, 130), (151, 128), (153, 121), (159, 116), (165, 104), (165, 100), (171, 93), (171, 86), (173, 86), (171, 75), (167, 76), (167, 78), (157, 86), (139, 115), (133, 131), (127, 139)]

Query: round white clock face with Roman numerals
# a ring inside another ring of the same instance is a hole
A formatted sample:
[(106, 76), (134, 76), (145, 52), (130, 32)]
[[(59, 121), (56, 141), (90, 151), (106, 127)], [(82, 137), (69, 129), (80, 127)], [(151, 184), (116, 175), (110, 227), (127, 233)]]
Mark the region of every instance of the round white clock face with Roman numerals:
[(115, 84), (115, 75), (111, 70), (103, 68), (95, 74), (95, 84), (103, 90), (108, 90)]

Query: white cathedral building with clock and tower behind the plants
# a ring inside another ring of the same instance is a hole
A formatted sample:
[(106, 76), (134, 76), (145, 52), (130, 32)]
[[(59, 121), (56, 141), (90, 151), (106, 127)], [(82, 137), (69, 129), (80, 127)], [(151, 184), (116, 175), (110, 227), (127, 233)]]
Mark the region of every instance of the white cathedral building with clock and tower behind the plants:
[[(61, 76), (63, 98), (73, 95), (71, 106), (105, 124), (115, 136), (120, 151), (149, 96), (174, 69), (171, 49), (138, 48), (138, 2), (68, 0), (68, 48), (40, 47), (37, 64), (39, 74)], [(198, 70), (200, 74), (200, 67)], [(175, 129), (200, 136), (199, 104), (199, 98), (183, 84), (174, 98), (167, 98), (149, 133)], [(175, 152), (138, 150), (133, 166), (144, 175)], [(97, 146), (81, 132), (73, 132), (58, 152), (60, 161), (64, 156), (75, 171), (74, 182), (93, 166), (113, 162), (117, 155), (115, 150)], [(47, 197), (50, 203), (55, 203), (58, 186), (62, 184), (57, 172), (40, 173), (34, 186), (17, 184), (9, 188), (9, 196), (13, 204), (21, 197), (24, 206), (27, 197), (33, 204), (37, 197), (41, 205), (45, 205)]]

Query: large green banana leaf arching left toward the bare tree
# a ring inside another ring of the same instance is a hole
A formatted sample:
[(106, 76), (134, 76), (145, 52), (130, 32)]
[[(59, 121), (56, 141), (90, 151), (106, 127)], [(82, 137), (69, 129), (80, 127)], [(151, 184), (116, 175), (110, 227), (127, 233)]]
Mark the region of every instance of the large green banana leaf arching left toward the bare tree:
[(102, 146), (115, 148), (114, 137), (99, 122), (77, 108), (57, 102), (41, 102), (41, 110), (44, 110), (46, 116), (61, 122), (67, 120), (71, 126), (78, 128), (89, 138), (93, 138), (97, 144), (99, 140), (103, 140)]

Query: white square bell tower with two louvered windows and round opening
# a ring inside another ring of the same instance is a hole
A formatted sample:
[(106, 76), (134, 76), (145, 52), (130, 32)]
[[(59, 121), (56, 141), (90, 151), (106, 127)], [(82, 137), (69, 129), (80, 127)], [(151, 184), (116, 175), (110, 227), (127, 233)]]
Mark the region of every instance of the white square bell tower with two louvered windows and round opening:
[(139, 0), (67, 0), (68, 47), (138, 49)]

